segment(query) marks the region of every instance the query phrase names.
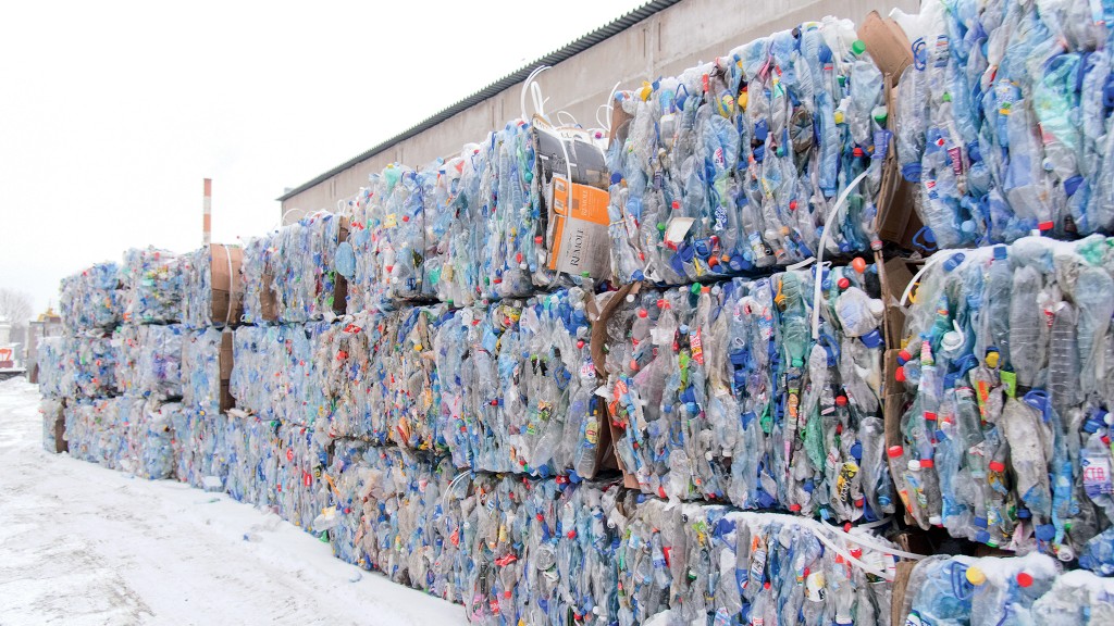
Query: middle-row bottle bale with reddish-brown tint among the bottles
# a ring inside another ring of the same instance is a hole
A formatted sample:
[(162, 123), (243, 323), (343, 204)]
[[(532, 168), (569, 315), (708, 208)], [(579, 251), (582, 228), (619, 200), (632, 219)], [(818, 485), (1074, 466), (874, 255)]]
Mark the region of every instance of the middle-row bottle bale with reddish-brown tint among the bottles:
[(446, 448), (434, 360), (444, 315), (440, 305), (359, 313), (324, 331), (313, 362), (330, 408), (330, 437)]

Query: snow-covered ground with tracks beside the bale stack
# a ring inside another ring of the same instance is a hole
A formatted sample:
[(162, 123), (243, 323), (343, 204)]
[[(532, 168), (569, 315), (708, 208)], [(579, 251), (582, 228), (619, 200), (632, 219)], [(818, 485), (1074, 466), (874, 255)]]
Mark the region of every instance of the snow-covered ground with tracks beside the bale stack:
[(46, 452), (38, 403), (0, 382), (0, 625), (466, 623), (227, 495)]

